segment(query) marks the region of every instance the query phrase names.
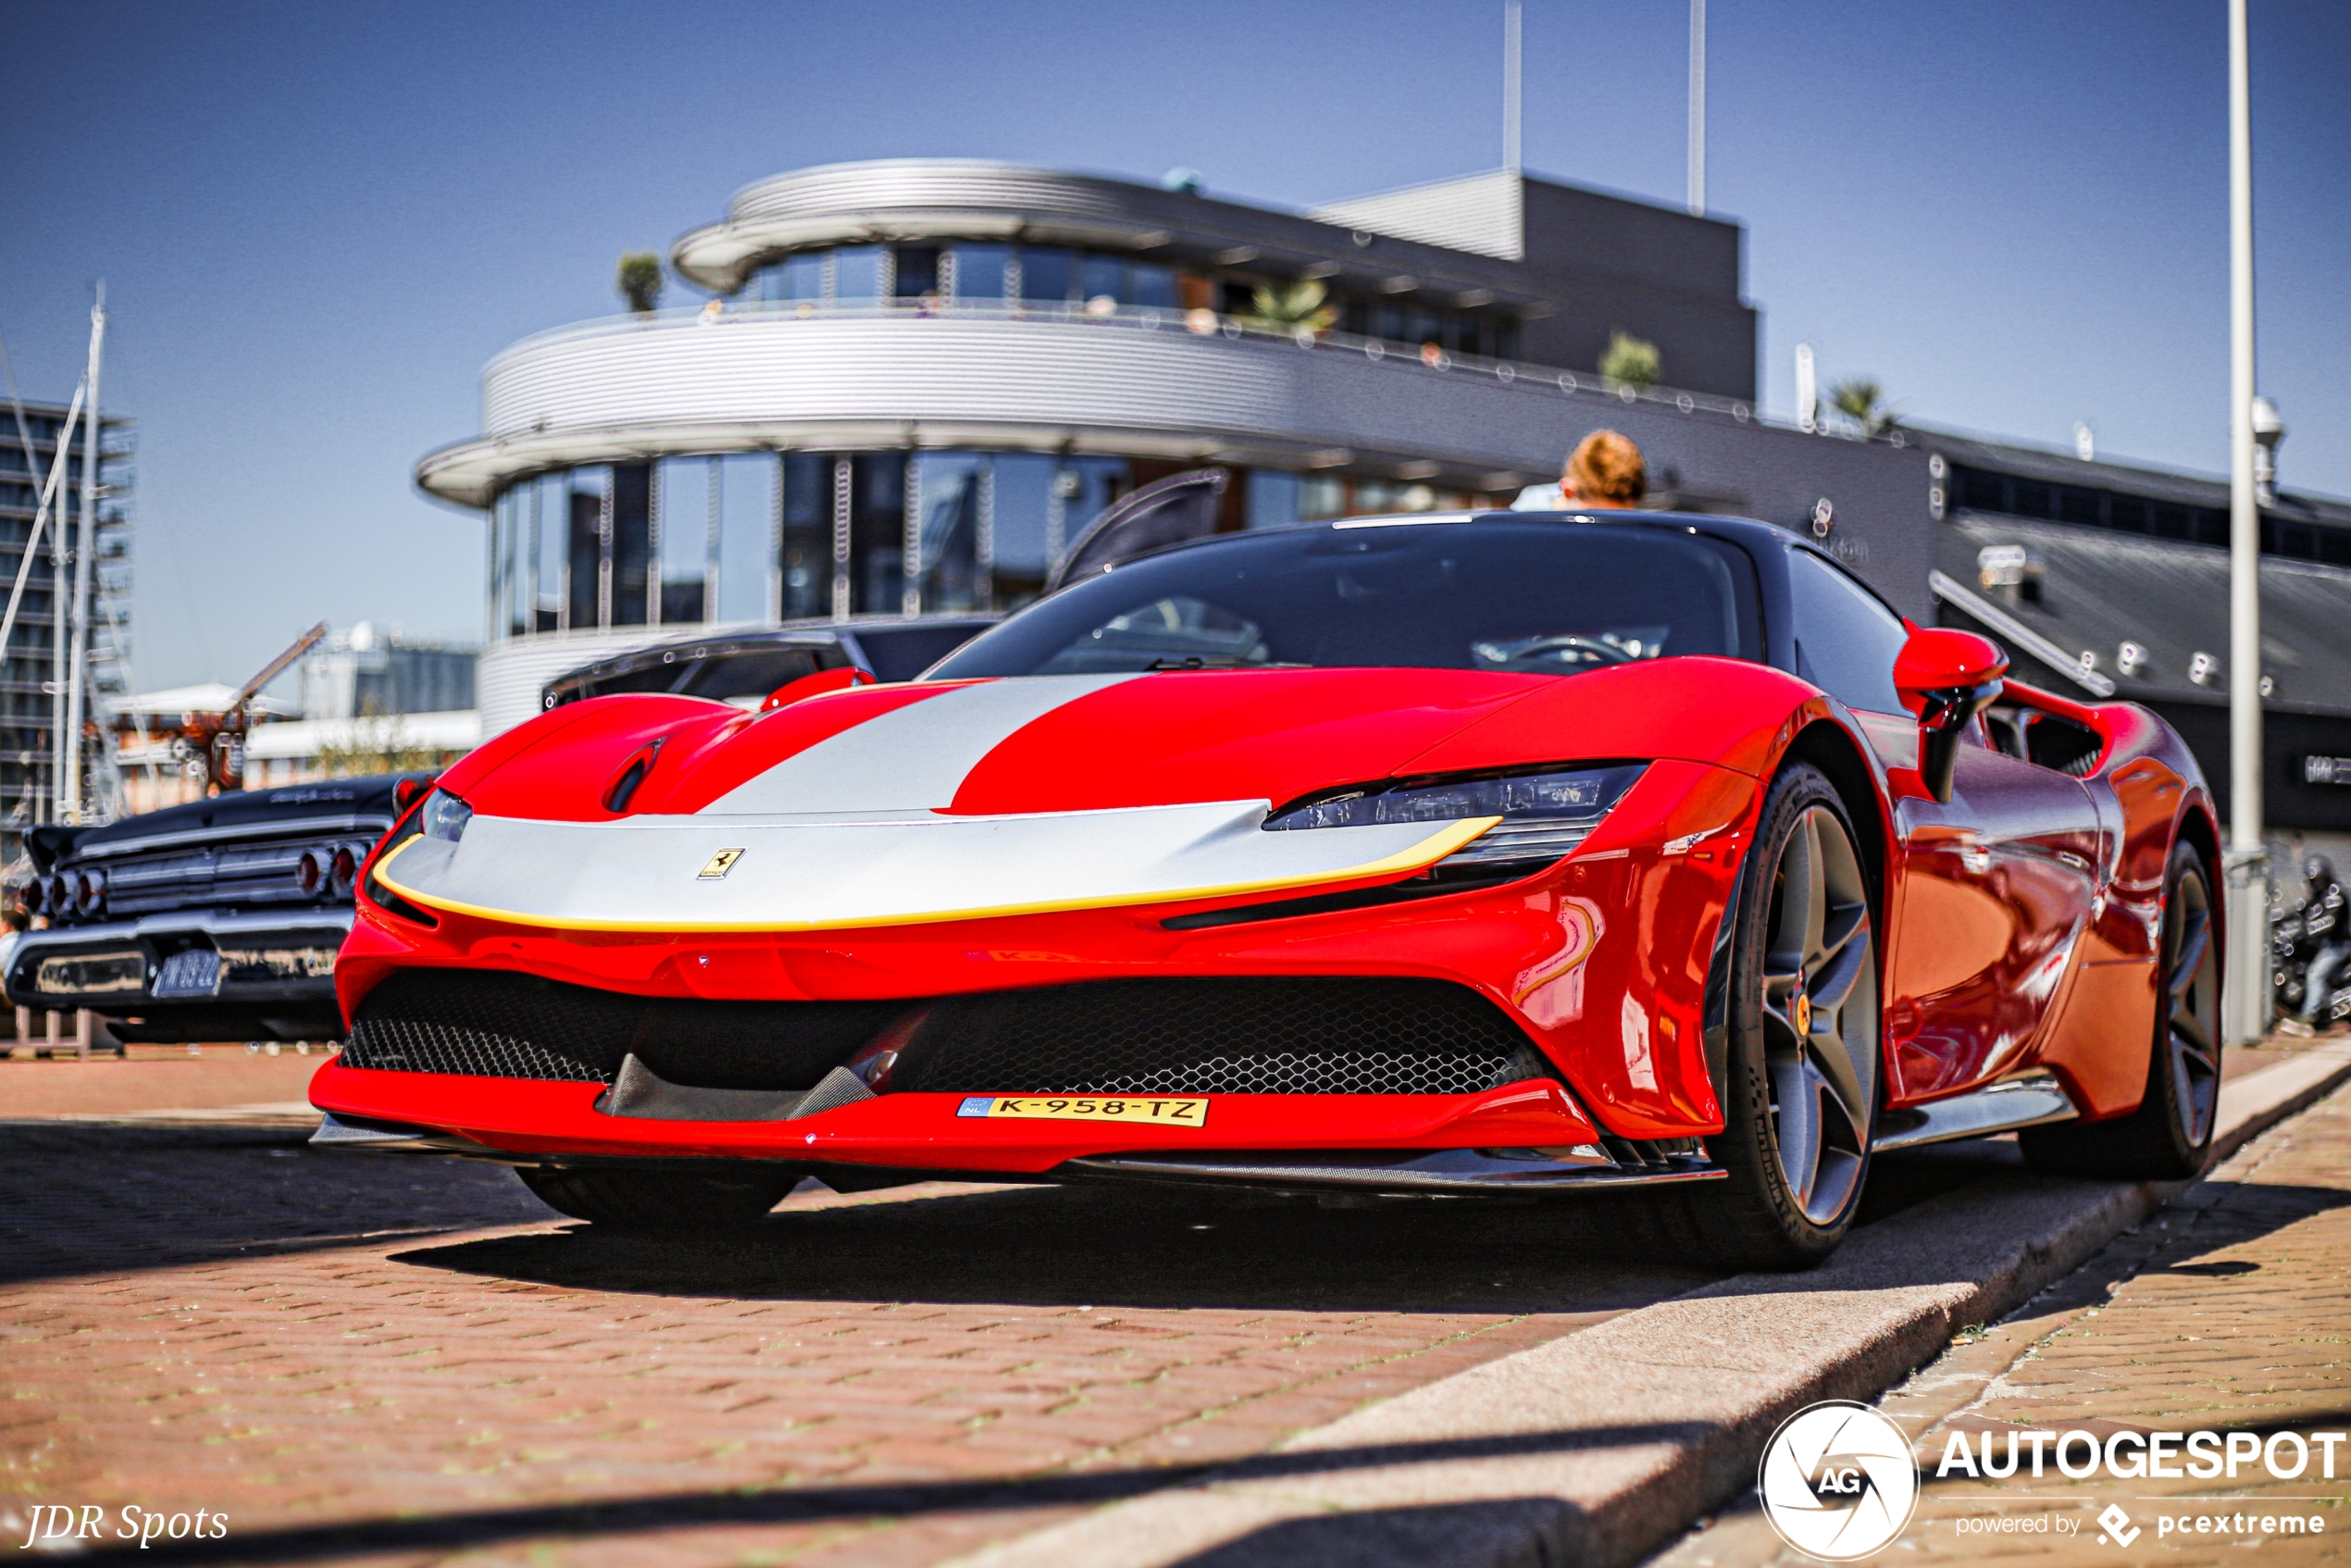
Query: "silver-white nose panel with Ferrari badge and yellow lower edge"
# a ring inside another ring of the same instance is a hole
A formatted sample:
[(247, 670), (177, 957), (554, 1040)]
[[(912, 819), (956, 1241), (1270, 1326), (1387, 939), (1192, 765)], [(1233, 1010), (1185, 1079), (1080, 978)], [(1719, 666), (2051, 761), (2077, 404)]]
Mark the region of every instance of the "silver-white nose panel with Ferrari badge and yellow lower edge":
[[(531, 823), (475, 816), (379, 867), (423, 905), (581, 931), (818, 931), (1089, 910), (1401, 875), (1498, 818), (1265, 832), (1262, 799), (1039, 816)], [(722, 849), (724, 877), (698, 872)]]

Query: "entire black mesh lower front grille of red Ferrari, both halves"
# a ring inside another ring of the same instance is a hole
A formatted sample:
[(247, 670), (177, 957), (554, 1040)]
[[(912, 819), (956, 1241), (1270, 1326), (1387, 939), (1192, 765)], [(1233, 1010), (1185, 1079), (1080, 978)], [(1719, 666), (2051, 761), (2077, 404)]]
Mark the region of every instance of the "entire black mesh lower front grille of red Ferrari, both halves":
[(931, 1093), (1476, 1093), (1547, 1072), (1448, 980), (1105, 980), (943, 1001), (677, 1001), (409, 969), (360, 1004), (346, 1067), (609, 1084), (635, 1053), (696, 1088), (809, 1088), (907, 1009), (889, 1079)]

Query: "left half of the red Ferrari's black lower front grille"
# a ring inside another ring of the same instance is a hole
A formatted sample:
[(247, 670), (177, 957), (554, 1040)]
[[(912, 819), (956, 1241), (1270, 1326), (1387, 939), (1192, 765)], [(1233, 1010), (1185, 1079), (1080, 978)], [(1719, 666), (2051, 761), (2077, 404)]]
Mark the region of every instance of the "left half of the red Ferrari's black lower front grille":
[(609, 1084), (635, 1053), (694, 1088), (811, 1088), (905, 1001), (679, 1001), (409, 969), (360, 1001), (346, 1067)]

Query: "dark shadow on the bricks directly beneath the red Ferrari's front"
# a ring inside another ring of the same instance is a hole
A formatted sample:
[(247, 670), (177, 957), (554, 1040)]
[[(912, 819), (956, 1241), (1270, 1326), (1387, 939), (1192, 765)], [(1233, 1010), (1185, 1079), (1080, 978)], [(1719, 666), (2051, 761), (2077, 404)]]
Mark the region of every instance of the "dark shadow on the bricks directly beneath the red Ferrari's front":
[(1716, 1279), (1608, 1234), (1589, 1206), (1312, 1201), (1030, 1187), (781, 1208), (743, 1232), (567, 1227), (395, 1262), (567, 1288), (736, 1300), (1615, 1312)]

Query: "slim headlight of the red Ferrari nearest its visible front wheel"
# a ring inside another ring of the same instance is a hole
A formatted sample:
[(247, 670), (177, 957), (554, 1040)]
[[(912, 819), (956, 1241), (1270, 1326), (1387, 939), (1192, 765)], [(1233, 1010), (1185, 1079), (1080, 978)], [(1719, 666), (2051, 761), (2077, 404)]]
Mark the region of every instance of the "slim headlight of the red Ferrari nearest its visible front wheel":
[(1265, 818), (1270, 830), (1375, 827), (1382, 823), (1448, 823), (1472, 816), (1502, 818), (1436, 863), (1439, 870), (1500, 870), (1547, 865), (1599, 827), (1608, 809), (1648, 764), (1559, 769), (1502, 778), (1453, 778), (1415, 785), (1364, 785), (1324, 795)]

